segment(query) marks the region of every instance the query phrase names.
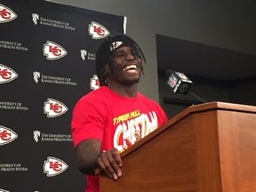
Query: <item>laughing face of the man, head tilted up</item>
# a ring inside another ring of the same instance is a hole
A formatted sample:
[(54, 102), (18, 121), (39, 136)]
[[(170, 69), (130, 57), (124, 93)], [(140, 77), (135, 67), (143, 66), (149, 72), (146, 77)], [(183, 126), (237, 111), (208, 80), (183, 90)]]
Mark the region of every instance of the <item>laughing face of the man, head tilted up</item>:
[(139, 82), (141, 60), (133, 54), (129, 46), (116, 49), (109, 65), (108, 77), (110, 81), (125, 86), (131, 86)]

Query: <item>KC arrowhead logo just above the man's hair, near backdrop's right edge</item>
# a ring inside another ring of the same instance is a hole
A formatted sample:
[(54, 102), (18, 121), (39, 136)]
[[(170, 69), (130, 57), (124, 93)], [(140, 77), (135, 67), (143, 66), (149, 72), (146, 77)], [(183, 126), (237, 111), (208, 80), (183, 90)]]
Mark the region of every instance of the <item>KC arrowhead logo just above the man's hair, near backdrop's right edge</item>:
[(92, 39), (105, 38), (110, 34), (107, 28), (94, 21), (89, 24), (88, 32), (89, 35), (92, 36)]

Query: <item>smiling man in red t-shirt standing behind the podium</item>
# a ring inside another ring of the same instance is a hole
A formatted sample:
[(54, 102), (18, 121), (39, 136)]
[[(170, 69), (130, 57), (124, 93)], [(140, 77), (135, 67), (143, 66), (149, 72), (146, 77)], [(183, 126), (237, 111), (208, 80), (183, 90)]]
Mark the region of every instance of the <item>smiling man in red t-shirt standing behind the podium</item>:
[(100, 191), (98, 167), (118, 180), (123, 174), (120, 153), (167, 121), (156, 101), (137, 92), (143, 62), (139, 45), (123, 34), (108, 36), (96, 52), (100, 88), (78, 100), (71, 122), (86, 192)]

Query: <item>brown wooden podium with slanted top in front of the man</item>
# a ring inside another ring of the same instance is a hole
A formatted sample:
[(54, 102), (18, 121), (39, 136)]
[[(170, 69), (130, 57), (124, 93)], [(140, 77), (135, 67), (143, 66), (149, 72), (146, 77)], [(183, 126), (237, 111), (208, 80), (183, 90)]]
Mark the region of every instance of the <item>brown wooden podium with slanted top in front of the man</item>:
[(256, 107), (186, 108), (121, 156), (123, 176), (100, 176), (100, 192), (254, 192)]

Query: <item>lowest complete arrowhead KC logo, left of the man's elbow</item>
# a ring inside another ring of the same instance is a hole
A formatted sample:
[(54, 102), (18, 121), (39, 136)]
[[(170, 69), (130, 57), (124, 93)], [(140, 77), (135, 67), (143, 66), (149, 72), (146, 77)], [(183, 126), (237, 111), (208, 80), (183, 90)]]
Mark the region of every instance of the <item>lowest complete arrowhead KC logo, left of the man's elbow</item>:
[(56, 176), (66, 169), (68, 169), (68, 164), (58, 158), (48, 156), (44, 161), (44, 173), (47, 177)]

